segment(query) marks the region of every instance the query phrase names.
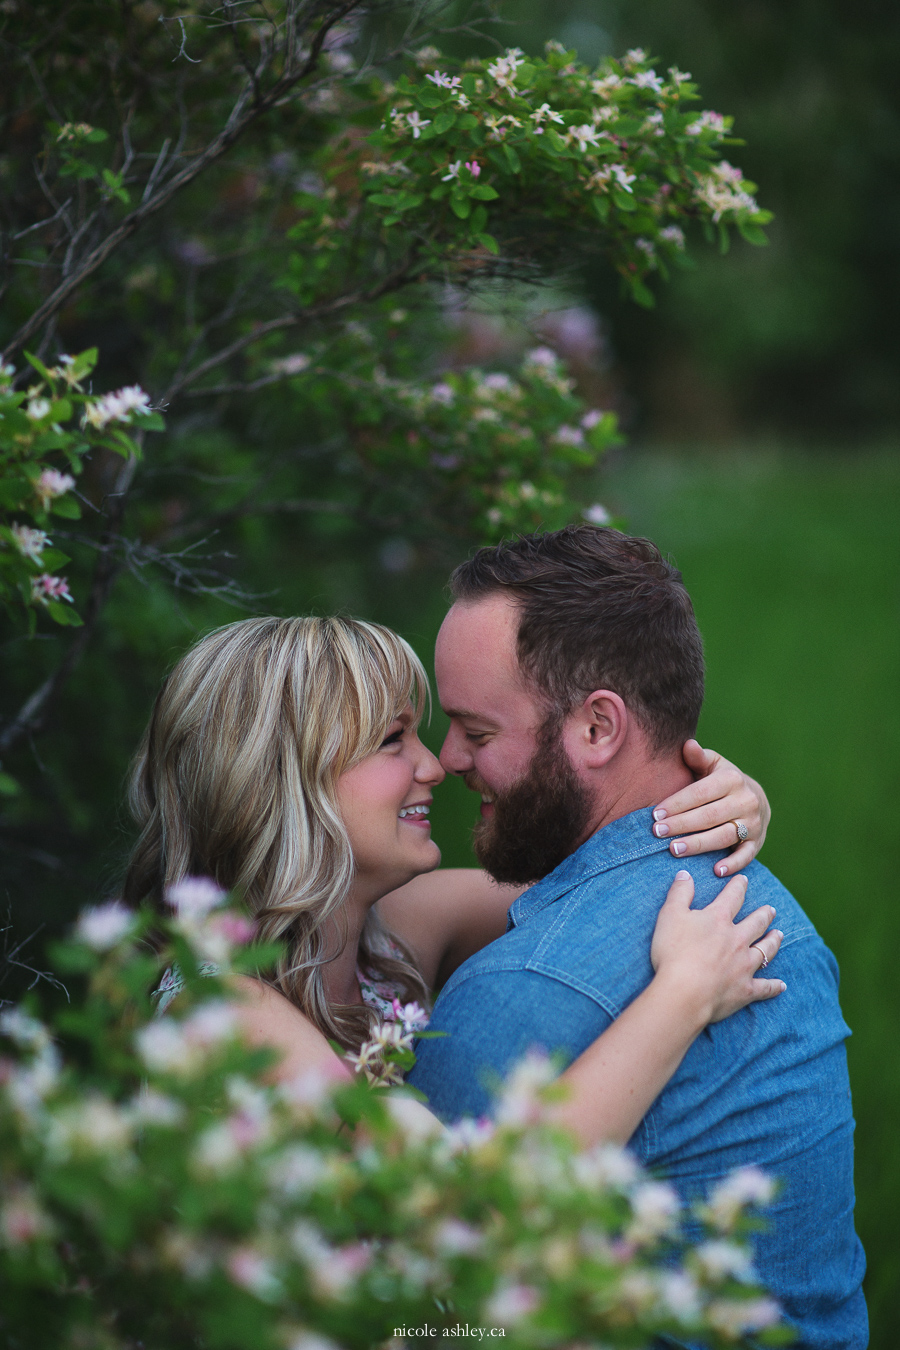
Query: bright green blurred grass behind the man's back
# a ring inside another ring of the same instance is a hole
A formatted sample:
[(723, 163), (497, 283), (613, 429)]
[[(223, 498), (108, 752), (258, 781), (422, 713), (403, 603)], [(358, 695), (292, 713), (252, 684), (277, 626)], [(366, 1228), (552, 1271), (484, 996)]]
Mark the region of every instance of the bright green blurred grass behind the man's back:
[[(633, 454), (607, 474), (602, 500), (681, 568), (707, 651), (700, 737), (765, 786), (773, 819), (762, 861), (841, 963), (872, 1346), (895, 1350), (900, 456)], [(402, 625), (422, 655), (443, 610), (422, 597)], [(433, 744), (440, 734), (436, 717)], [(436, 836), (448, 863), (466, 863), (472, 805), (451, 787)]]

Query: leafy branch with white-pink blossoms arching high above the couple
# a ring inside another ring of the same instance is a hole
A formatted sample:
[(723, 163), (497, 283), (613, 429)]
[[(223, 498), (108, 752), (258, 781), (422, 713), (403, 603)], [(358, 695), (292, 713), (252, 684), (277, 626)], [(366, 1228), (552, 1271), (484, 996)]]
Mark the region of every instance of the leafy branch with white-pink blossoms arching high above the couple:
[[(721, 159), (731, 117), (696, 113), (691, 77), (660, 76), (641, 49), (598, 69), (548, 43), (505, 57), (447, 61), (420, 54), (422, 74), (389, 88), (390, 111), (363, 165), (386, 227), (418, 227), (434, 252), (498, 254), (522, 232), (592, 235), (641, 304), (649, 273), (684, 256), (684, 227), (730, 225), (765, 243), (761, 211), (739, 169)], [(444, 69), (439, 69), (443, 66)], [(739, 142), (738, 142), (739, 143)]]

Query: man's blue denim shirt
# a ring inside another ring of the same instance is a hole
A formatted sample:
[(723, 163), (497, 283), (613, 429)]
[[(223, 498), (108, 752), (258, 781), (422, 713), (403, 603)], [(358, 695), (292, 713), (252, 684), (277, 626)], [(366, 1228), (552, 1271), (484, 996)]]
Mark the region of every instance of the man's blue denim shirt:
[[(679, 868), (695, 907), (722, 890), (721, 853), (677, 860), (654, 838), (649, 810), (594, 834), (510, 907), (503, 937), (444, 987), (409, 1081), (444, 1119), (486, 1115), (491, 1083), (532, 1046), (582, 1053), (650, 981), (650, 938)], [(708, 1026), (638, 1126), (630, 1148), (683, 1199), (737, 1166), (783, 1183), (754, 1238), (762, 1281), (799, 1346), (864, 1350), (865, 1257), (853, 1227), (853, 1110), (837, 963), (793, 896), (758, 863), (746, 869), (739, 918), (777, 910), (781, 950), (766, 976), (787, 992)]]

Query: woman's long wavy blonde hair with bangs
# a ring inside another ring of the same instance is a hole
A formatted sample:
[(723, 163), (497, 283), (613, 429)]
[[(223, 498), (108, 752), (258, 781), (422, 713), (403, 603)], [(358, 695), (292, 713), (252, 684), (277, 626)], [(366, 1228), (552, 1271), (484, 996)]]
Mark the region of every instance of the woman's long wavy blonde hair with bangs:
[[(248, 618), (209, 633), (171, 671), (135, 757), (130, 805), (142, 826), (125, 878), (130, 903), (163, 902), (185, 876), (239, 890), (258, 938), (285, 952), (269, 981), (328, 1037), (359, 1048), (372, 1014), (325, 998), (325, 923), (354, 878), (337, 809), (340, 775), (381, 745), (428, 678), (381, 624)], [(360, 964), (407, 999), (428, 990), (412, 954), (374, 910)]]

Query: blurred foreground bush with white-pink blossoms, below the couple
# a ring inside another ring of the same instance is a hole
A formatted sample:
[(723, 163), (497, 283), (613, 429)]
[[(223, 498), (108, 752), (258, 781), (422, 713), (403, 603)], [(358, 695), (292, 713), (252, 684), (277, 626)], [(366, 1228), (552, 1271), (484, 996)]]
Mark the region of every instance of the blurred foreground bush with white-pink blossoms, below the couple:
[[(493, 1123), (449, 1130), (364, 1073), (267, 1085), (231, 976), (273, 953), (244, 945), (252, 927), (223, 899), (188, 883), (170, 919), (86, 911), (58, 950), (84, 996), (55, 1027), (34, 1008), (0, 1017), (5, 1345), (785, 1339), (742, 1241), (770, 1183), (730, 1177), (698, 1215), (706, 1237), (685, 1241), (669, 1187), (542, 1123), (545, 1061), (519, 1065)], [(150, 991), (173, 963), (184, 988), (158, 1017)], [(395, 1013), (385, 1061), (409, 1057), (421, 1022)]]

